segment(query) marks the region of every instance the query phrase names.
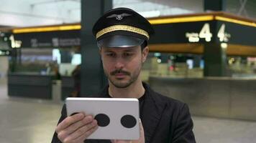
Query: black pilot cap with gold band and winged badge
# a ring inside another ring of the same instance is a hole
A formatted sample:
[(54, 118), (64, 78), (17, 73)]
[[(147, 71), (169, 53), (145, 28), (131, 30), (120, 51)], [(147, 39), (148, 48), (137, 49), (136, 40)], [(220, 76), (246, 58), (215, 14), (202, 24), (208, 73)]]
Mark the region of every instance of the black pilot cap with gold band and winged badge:
[(93, 35), (100, 47), (139, 46), (153, 33), (150, 22), (128, 8), (107, 11), (93, 26)]

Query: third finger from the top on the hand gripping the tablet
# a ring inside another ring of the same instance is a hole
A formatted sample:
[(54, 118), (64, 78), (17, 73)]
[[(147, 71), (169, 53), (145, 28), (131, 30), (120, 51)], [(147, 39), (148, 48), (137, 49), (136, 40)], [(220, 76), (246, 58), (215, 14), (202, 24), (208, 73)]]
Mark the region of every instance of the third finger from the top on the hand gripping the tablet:
[(72, 134), (70, 134), (66, 139), (64, 139), (64, 142), (69, 142), (73, 139), (76, 139), (80, 136), (82, 136), (83, 134), (88, 134), (88, 136), (90, 135), (89, 133), (91, 133), (92, 131), (90, 131), (91, 129), (93, 129), (94, 127), (97, 127), (97, 121), (96, 119), (93, 119), (93, 122), (91, 122), (90, 124), (86, 124), (85, 126), (77, 129), (75, 132), (73, 132)]

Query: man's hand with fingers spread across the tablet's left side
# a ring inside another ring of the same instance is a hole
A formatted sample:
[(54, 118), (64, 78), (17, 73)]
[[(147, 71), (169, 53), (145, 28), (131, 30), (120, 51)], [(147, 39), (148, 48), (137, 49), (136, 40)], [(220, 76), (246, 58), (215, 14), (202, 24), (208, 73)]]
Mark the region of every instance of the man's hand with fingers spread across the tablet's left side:
[(98, 128), (96, 119), (83, 113), (66, 117), (55, 131), (63, 143), (81, 143)]

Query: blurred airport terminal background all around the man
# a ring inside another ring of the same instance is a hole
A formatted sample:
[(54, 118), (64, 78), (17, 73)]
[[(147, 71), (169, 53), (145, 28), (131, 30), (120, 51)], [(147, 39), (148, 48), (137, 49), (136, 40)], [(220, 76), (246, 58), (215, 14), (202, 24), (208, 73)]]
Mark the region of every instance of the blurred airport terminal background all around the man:
[(50, 142), (65, 98), (106, 85), (91, 28), (117, 7), (153, 25), (142, 79), (188, 104), (197, 142), (256, 142), (255, 0), (1, 0), (1, 143)]

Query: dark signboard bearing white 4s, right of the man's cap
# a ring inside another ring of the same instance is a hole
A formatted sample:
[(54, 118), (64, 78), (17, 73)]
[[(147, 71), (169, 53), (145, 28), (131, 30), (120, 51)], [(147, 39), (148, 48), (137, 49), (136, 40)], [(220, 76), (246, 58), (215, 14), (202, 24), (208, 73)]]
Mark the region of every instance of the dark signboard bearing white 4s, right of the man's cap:
[(229, 43), (256, 46), (256, 29), (226, 21), (196, 21), (153, 25), (150, 44)]

